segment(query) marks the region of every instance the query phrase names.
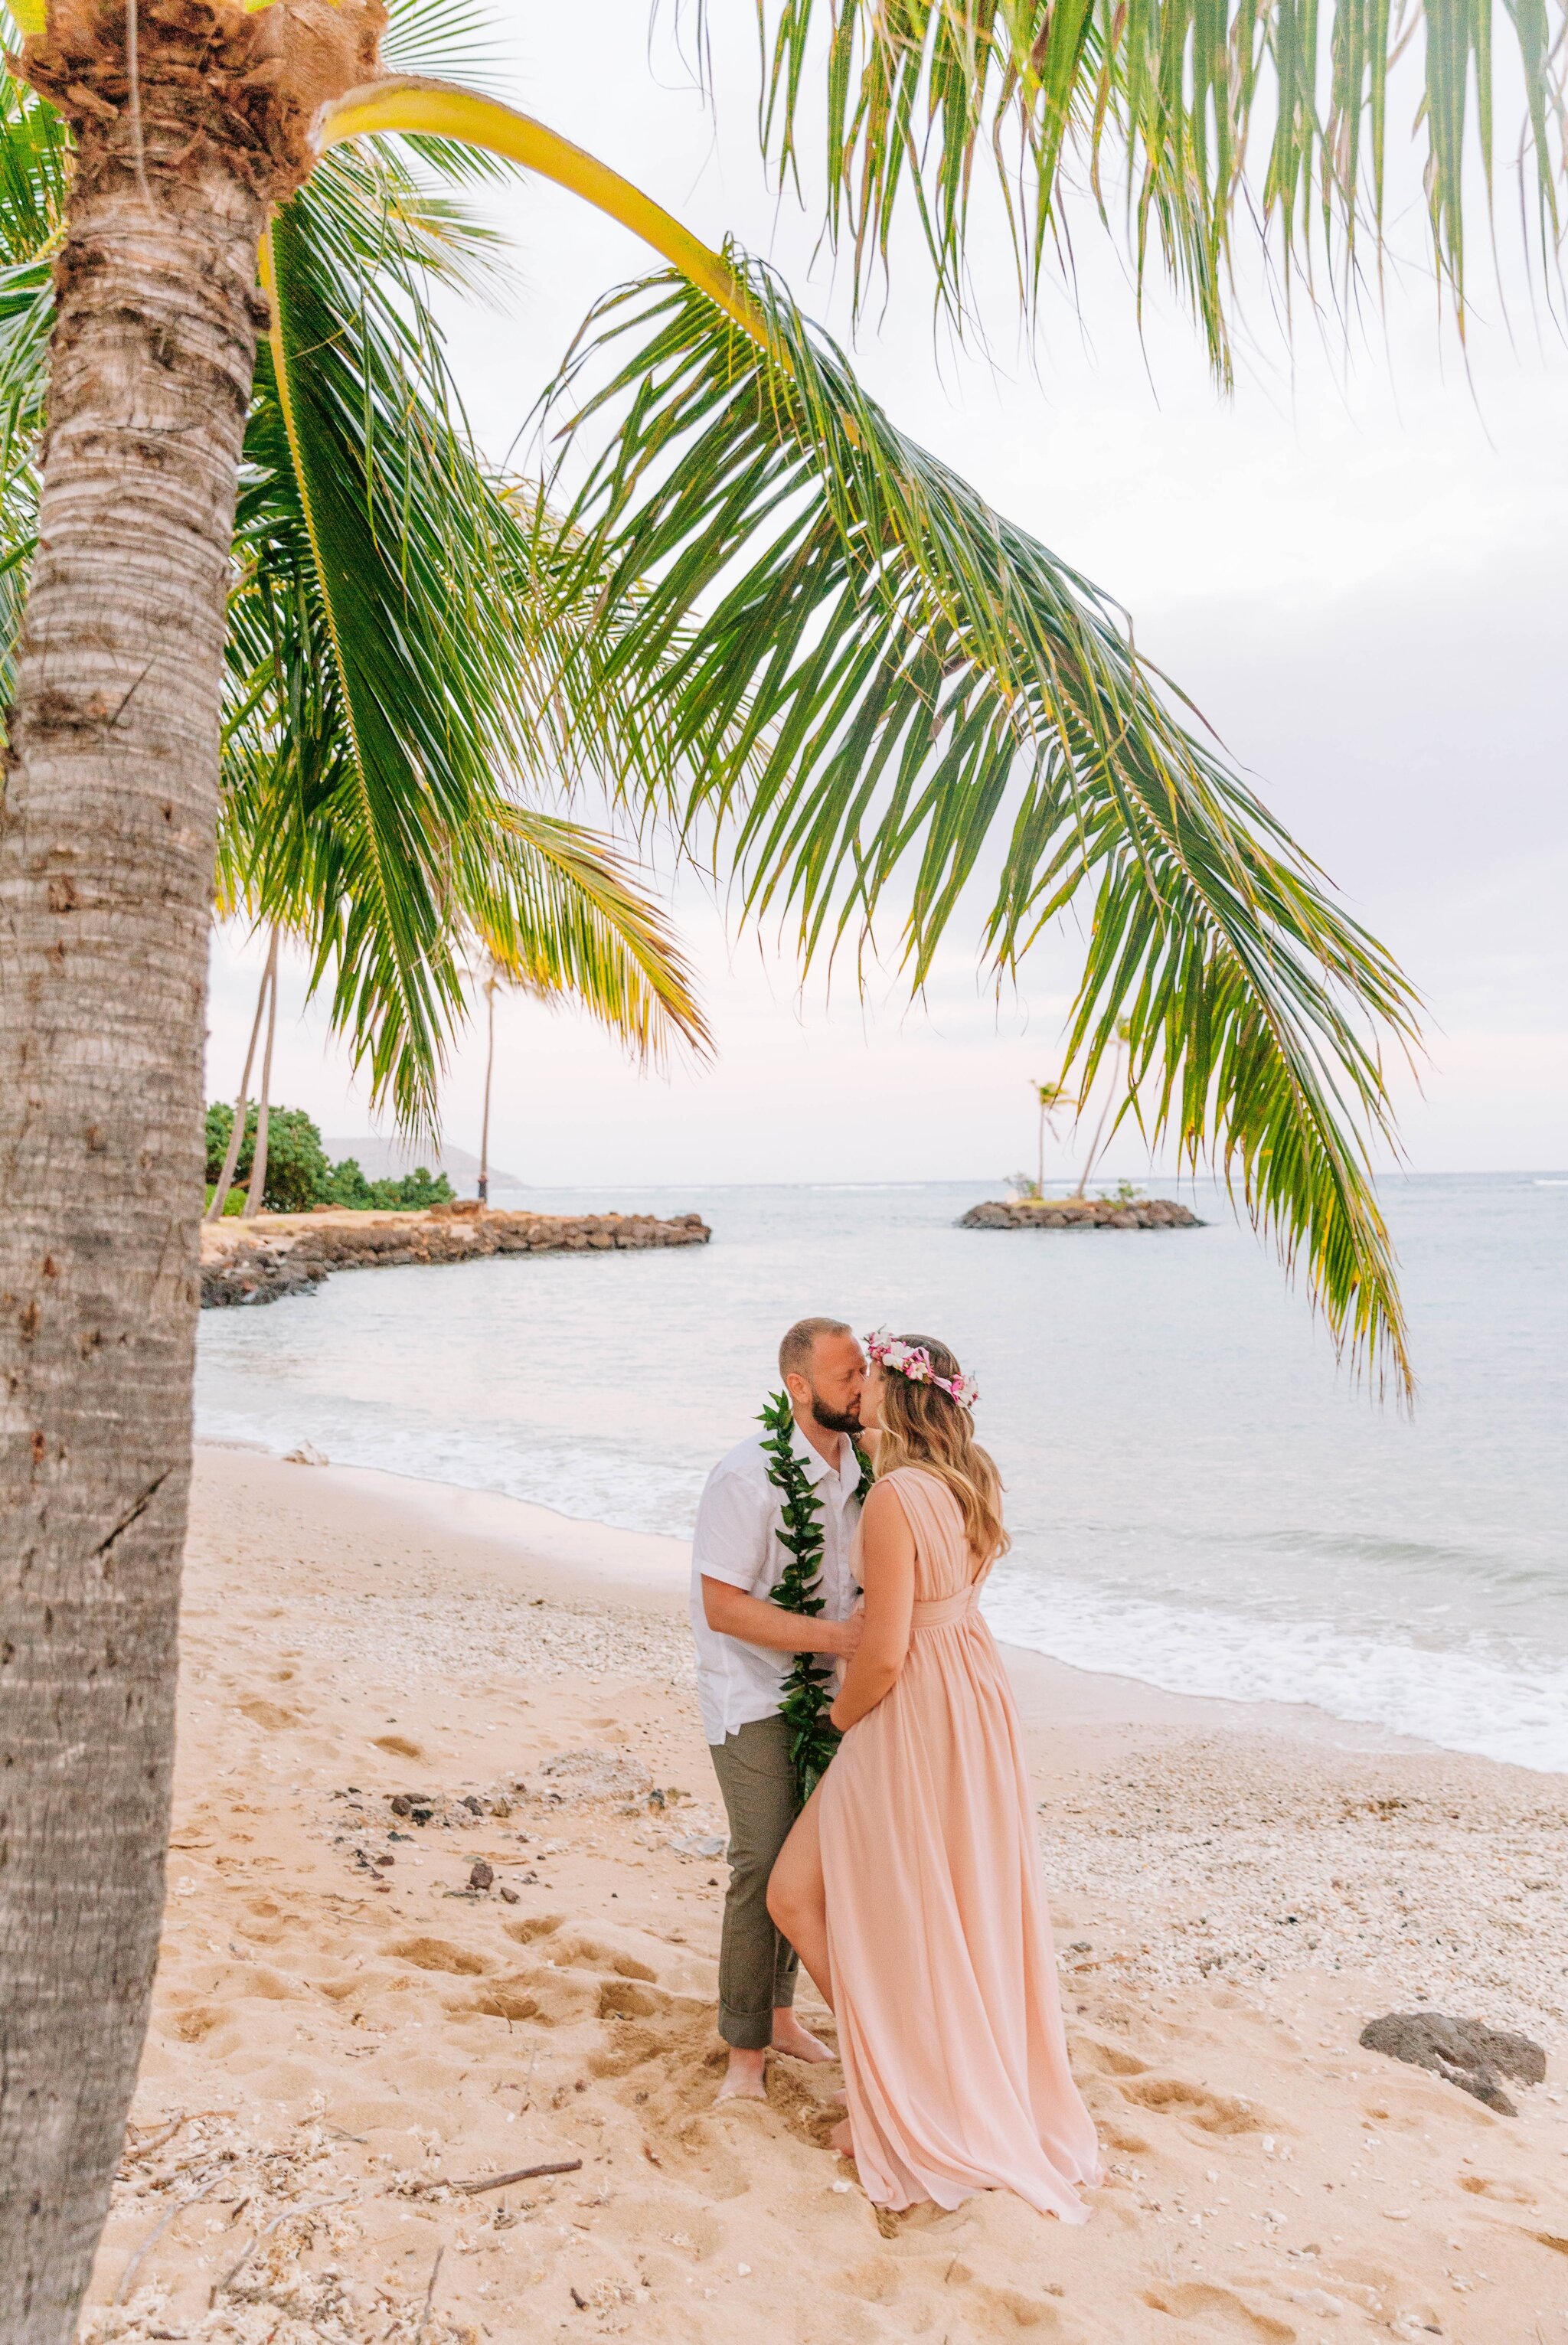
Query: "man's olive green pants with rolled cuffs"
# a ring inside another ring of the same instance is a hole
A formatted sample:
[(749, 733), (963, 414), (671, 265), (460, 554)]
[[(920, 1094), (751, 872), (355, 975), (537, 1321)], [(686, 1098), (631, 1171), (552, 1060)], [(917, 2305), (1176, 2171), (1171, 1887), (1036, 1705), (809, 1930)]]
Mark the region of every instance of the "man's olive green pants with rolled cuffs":
[(736, 2052), (764, 2052), (773, 2012), (795, 2003), (799, 1956), (769, 1914), (769, 1874), (795, 1822), (790, 1733), (773, 1712), (710, 1742), (729, 1817), (729, 1892), (720, 1939), (720, 2035)]

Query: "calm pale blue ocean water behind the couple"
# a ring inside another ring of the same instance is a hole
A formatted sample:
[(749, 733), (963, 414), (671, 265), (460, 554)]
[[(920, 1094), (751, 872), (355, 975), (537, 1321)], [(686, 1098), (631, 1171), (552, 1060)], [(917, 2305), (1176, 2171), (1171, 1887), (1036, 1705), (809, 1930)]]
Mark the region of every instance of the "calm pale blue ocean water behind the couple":
[[(956, 1229), (987, 1184), (534, 1191), (713, 1245), (340, 1273), (209, 1311), (197, 1426), (687, 1534), (832, 1311), (940, 1334), (1008, 1484), (998, 1634), (1568, 1770), (1568, 1177), (1390, 1182), (1420, 1398), (1378, 1407), (1207, 1187), (1198, 1231)], [(523, 1203), (523, 1198), (518, 1198)]]

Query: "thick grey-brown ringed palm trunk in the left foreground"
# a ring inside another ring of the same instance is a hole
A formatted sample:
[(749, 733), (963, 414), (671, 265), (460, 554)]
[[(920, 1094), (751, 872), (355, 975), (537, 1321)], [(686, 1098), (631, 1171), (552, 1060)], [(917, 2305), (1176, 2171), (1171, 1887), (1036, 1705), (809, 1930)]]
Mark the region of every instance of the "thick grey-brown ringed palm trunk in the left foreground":
[[(82, 47), (108, 26), (117, 49), (110, 98), (75, 106), (0, 781), (5, 2345), (75, 2336), (164, 1904), (218, 708), (263, 227), (260, 174), (225, 162), (223, 110), (188, 84), (183, 124), (173, 84), (155, 113), (143, 98), (145, 204), (124, 12), (73, 26)], [(148, 33), (143, 14), (143, 66)], [(84, 75), (80, 54), (54, 70)]]

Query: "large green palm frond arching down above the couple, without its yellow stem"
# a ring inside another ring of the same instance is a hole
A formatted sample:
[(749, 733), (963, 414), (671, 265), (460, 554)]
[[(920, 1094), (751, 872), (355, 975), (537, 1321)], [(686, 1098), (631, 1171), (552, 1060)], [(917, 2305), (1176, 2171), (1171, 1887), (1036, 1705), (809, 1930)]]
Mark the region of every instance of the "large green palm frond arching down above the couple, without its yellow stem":
[[(612, 295), (558, 387), (588, 457), (567, 516), (696, 776), (689, 837), (729, 835), (752, 915), (806, 961), (900, 905), (919, 985), (1003, 844), (996, 976), (1069, 903), (1088, 959), (1069, 1067), (1130, 1022), (1151, 1144), (1214, 1151), (1338, 1341), (1409, 1374), (1369, 1135), (1380, 1034), (1413, 999), (1256, 797), (1177, 715), (1116, 610), (865, 396), (738, 253), (766, 347), (677, 277)], [(989, 882), (984, 882), (989, 884)]]

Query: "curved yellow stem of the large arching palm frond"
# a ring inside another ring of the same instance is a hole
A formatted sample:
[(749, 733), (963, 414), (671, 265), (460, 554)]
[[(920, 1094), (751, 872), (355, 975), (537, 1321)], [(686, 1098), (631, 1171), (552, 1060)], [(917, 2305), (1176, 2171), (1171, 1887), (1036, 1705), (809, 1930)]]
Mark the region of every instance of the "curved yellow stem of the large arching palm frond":
[(755, 342), (764, 349), (773, 347), (762, 312), (715, 251), (694, 237), (689, 227), (682, 227), (663, 204), (654, 204), (652, 197), (633, 188), (609, 164), (572, 145), (570, 138), (563, 138), (560, 131), (548, 129), (544, 122), (534, 122), (532, 115), (520, 115), (511, 106), (502, 106), (499, 98), (480, 98), (473, 89), (462, 89), (457, 82), (389, 75), (380, 82), (361, 82), (359, 89), (349, 89), (335, 106), (328, 106), (316, 138), (321, 148), (328, 148), (342, 138), (366, 138), (377, 131), (457, 138), (464, 145), (480, 145), (490, 148), (492, 155), (506, 155), (527, 171), (539, 171), (541, 178), (553, 178), (560, 188), (570, 188), (572, 195), (581, 195), (586, 204), (609, 213), (621, 227), (630, 227), (635, 237), (642, 237), (656, 253), (663, 253), (682, 277), (701, 286), (720, 310), (727, 310)]

